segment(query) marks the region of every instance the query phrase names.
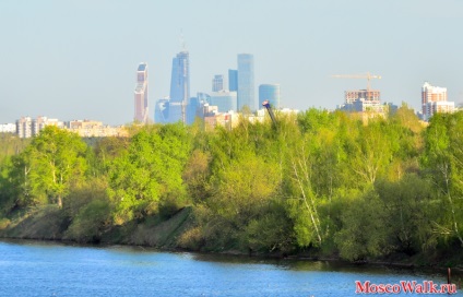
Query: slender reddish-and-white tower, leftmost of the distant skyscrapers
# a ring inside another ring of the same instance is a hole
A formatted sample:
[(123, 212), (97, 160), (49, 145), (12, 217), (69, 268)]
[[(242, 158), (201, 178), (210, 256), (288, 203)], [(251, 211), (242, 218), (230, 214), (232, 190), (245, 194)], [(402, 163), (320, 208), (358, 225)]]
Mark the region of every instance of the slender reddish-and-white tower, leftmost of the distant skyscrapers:
[(140, 63), (136, 69), (136, 85), (134, 92), (135, 115), (134, 120), (146, 123), (149, 120), (147, 111), (147, 64)]

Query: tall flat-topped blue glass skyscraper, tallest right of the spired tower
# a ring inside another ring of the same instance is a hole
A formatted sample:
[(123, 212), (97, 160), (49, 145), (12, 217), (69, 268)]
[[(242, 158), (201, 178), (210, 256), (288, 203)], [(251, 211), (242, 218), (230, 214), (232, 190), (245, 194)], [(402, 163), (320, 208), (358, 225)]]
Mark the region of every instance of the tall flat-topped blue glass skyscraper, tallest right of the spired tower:
[(248, 106), (256, 111), (254, 58), (250, 54), (238, 55), (238, 111)]

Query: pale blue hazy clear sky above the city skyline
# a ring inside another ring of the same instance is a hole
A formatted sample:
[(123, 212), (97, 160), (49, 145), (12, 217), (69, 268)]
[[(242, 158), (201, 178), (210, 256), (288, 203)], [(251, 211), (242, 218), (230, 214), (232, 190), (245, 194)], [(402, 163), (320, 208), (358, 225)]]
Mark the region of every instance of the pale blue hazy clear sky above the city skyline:
[(0, 123), (22, 116), (133, 120), (140, 62), (150, 114), (169, 95), (171, 59), (190, 52), (190, 90), (254, 56), (259, 84), (282, 106), (334, 109), (381, 75), (383, 102), (419, 109), (425, 81), (463, 103), (461, 0), (0, 0)]

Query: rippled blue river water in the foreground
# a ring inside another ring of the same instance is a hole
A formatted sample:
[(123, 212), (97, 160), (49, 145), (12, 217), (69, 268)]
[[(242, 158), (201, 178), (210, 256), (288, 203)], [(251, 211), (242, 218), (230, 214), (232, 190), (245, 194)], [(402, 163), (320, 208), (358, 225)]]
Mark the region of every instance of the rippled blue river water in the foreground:
[[(0, 241), (0, 296), (356, 296), (356, 281), (442, 284), (447, 275), (136, 247)], [(414, 294), (401, 289), (401, 295)], [(460, 289), (453, 296), (462, 296)]]

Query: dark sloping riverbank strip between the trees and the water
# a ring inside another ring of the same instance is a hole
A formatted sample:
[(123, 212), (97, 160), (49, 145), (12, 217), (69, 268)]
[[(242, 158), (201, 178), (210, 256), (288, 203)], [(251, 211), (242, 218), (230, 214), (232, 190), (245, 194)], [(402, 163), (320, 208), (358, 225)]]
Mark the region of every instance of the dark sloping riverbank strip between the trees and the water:
[(337, 254), (323, 254), (310, 249), (299, 250), (293, 253), (281, 252), (250, 252), (236, 248), (224, 249), (186, 249), (179, 242), (179, 238), (193, 224), (192, 207), (185, 207), (169, 218), (151, 216), (143, 221), (129, 222), (121, 226), (112, 226), (100, 233), (97, 237), (79, 240), (73, 238), (68, 227), (71, 222), (62, 215), (57, 207), (34, 209), (28, 212), (17, 213), (14, 217), (3, 219), (0, 224), (0, 238), (3, 239), (27, 239), (47, 240), (64, 243), (111, 246), (123, 245), (134, 247), (150, 247), (163, 251), (193, 251), (206, 254), (226, 254), (253, 258), (290, 259), (308, 261), (330, 261), (344, 264), (389, 266), (396, 269), (426, 269), (442, 272), (447, 268), (463, 273), (463, 256), (460, 247), (453, 250), (435, 251), (434, 253), (416, 253), (406, 256), (404, 253), (391, 253), (383, 258), (370, 258), (361, 262), (348, 262), (342, 260)]

